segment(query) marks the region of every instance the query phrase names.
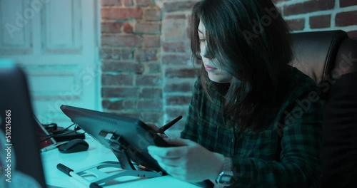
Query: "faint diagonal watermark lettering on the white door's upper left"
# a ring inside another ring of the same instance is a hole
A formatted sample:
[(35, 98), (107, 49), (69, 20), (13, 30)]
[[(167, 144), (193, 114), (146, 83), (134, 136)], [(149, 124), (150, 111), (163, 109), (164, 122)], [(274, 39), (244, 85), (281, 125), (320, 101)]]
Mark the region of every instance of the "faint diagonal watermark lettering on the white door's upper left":
[(48, 3), (50, 0), (32, 0), (27, 1), (29, 7), (24, 9), (21, 13), (15, 13), (15, 23), (6, 23), (5, 28), (9, 33), (11, 38), (14, 38), (14, 33), (21, 31), (21, 28), (24, 28), (29, 20), (34, 19), (35, 14), (38, 14), (41, 11), (44, 4)]

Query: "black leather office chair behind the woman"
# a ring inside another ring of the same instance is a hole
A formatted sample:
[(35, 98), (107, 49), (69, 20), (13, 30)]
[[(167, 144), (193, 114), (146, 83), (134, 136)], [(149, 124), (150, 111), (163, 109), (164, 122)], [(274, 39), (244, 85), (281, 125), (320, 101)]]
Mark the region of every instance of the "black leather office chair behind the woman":
[(322, 187), (357, 184), (357, 40), (345, 31), (293, 33), (295, 66), (321, 88)]

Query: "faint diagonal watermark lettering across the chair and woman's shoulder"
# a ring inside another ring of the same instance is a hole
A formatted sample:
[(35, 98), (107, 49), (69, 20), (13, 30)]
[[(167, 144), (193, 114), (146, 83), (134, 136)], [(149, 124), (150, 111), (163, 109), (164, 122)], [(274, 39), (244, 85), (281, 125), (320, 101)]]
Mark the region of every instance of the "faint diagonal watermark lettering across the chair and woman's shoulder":
[[(346, 56), (346, 54), (342, 54), (341, 57), (342, 60), (338, 63), (338, 67), (333, 68), (331, 71), (332, 75), (327, 75), (326, 82), (318, 84), (318, 88), (322, 88), (321, 93), (327, 93), (328, 90), (330, 90), (331, 85), (335, 84), (336, 80), (341, 78), (343, 72), (346, 73), (353, 66), (353, 63), (357, 63), (357, 58), (352, 58), (351, 52), (348, 53), (348, 56)], [(283, 130), (284, 127), (294, 125), (296, 123), (296, 119), (302, 117), (303, 113), (311, 109), (312, 103), (316, 103), (319, 100), (320, 95), (318, 95), (316, 91), (308, 93), (307, 98), (302, 100), (297, 99), (296, 103), (298, 106), (293, 108), (291, 112), (288, 112), (287, 110), (284, 111), (284, 114), (286, 115), (284, 118), (284, 124), (281, 124), (281, 122), (275, 122), (274, 127), (276, 127), (278, 134), (282, 136), (281, 130)]]

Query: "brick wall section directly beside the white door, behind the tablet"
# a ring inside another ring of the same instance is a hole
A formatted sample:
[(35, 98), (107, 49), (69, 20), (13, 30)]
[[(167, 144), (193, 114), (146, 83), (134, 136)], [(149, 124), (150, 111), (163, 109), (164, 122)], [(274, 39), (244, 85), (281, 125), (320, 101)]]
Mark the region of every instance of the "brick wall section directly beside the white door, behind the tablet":
[(151, 0), (101, 0), (103, 109), (163, 122), (161, 10)]

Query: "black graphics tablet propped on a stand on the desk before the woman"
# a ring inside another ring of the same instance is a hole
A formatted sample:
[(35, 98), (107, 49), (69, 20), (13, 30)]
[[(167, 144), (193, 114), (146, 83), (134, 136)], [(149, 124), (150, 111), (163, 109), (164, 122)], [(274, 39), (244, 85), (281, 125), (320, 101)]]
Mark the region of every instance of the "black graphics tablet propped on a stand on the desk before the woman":
[(126, 148), (128, 148), (131, 161), (147, 169), (164, 172), (156, 160), (149, 155), (146, 148), (149, 145), (159, 147), (169, 147), (170, 145), (141, 120), (69, 105), (61, 105), (61, 110), (71, 118), (72, 122), (94, 137), (101, 145), (111, 149), (111, 144), (106, 140), (103, 132), (113, 133), (127, 143), (128, 147)]

